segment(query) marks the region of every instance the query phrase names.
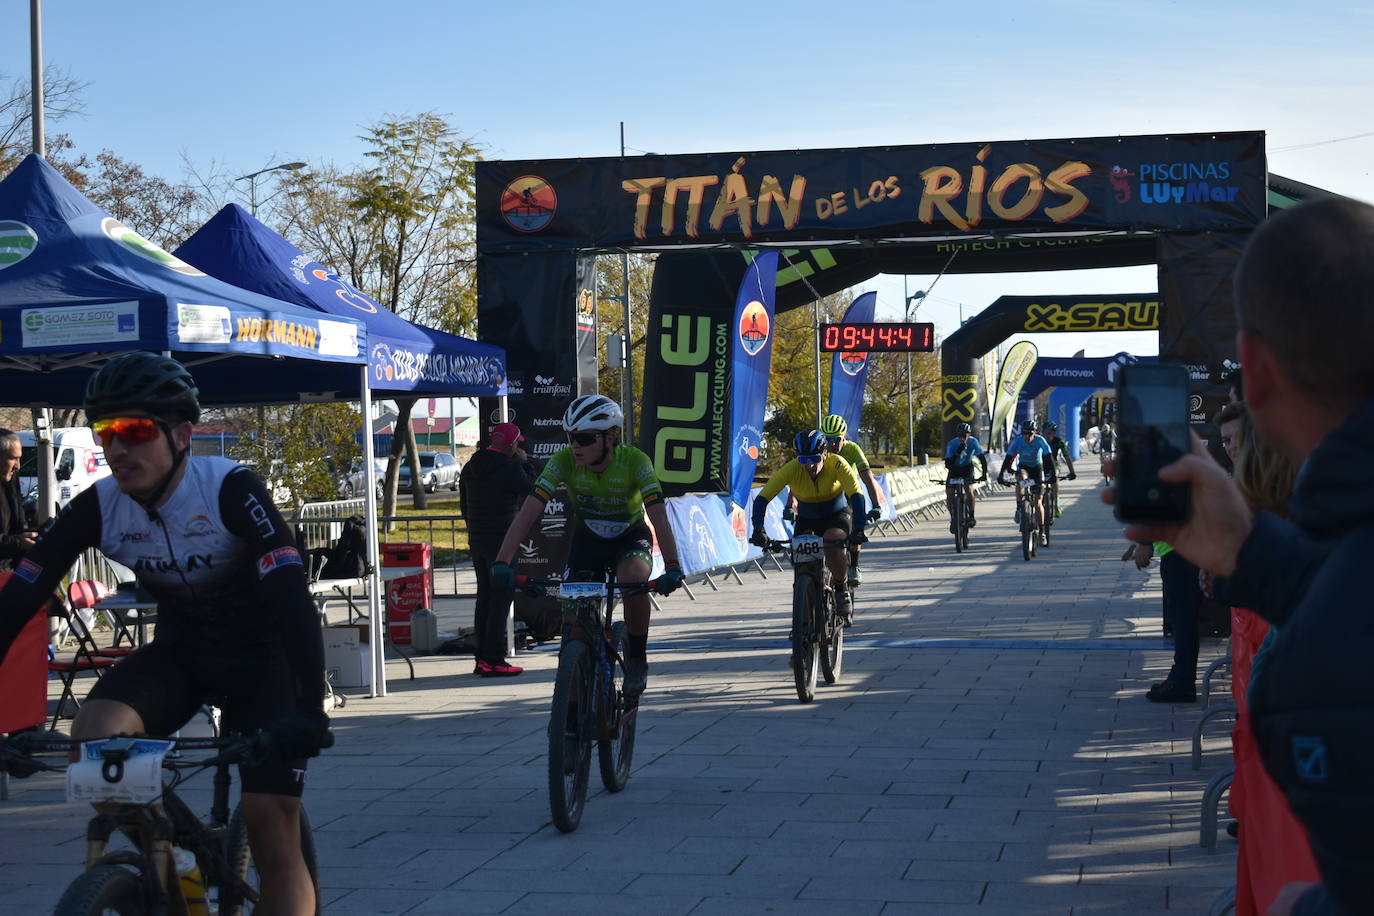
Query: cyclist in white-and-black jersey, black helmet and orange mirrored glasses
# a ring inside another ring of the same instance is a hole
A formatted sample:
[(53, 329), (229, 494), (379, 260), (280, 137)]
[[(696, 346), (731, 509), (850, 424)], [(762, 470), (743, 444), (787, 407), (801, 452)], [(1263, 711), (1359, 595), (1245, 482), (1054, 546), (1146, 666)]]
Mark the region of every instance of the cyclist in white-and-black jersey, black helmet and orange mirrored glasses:
[(0, 589), (0, 658), (85, 549), (133, 570), (158, 602), (153, 641), (91, 688), (71, 736), (170, 735), (214, 703), (228, 732), (269, 729), (276, 753), (240, 765), (260, 913), (316, 912), (301, 853), (305, 758), (333, 743), (324, 647), (305, 566), (262, 481), (191, 456), (190, 372), (157, 353), (106, 363), (85, 413), (111, 475), (81, 492)]

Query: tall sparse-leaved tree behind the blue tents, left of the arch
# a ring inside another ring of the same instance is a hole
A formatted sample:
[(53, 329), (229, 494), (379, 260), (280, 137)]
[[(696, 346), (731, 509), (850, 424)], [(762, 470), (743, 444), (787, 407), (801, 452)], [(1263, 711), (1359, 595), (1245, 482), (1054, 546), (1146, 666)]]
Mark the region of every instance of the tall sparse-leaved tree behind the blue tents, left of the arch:
[[(475, 162), (482, 147), (442, 117), (386, 117), (360, 137), (370, 166), (302, 170), (283, 179), (282, 217), (306, 250), (401, 317), (453, 334), (477, 328)], [(397, 400), (383, 514), (396, 505), (403, 449), (414, 500), (425, 508), (411, 411)]]

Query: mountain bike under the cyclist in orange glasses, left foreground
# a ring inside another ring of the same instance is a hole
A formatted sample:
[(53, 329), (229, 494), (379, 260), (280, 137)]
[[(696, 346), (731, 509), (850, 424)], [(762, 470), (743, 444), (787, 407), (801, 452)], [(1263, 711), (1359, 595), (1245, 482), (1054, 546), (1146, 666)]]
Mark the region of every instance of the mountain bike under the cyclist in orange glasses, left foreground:
[[(328, 743), (333, 744), (333, 736)], [(37, 754), (81, 748), (76, 764), (54, 765)], [(218, 751), (198, 759), (181, 751)], [(0, 737), (0, 768), (15, 776), (67, 770), (67, 801), (96, 802), (87, 825), (87, 869), (67, 886), (55, 916), (207, 916), (209, 891), (217, 891), (221, 916), (242, 916), (258, 902), (253, 853), (242, 808), (229, 813), (229, 766), (256, 764), (272, 751), (271, 737), (107, 737), (74, 742), (63, 736), (25, 732)], [(210, 820), (202, 821), (176, 794), (190, 776), (214, 769)], [(168, 775), (164, 777), (162, 770)], [(185, 770), (194, 770), (187, 773)], [(114, 831), (132, 850), (110, 850)], [(319, 867), (311, 821), (301, 808), (301, 853), (319, 904)]]

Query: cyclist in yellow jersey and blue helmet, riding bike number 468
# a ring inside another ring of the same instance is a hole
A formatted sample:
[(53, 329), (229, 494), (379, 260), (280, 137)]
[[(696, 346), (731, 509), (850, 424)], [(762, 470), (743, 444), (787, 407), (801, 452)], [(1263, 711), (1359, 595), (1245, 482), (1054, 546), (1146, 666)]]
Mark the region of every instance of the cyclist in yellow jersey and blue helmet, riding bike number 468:
[[(797, 500), (794, 534), (819, 534), (851, 545), (868, 538), (863, 530), (868, 523), (868, 501), (859, 489), (859, 475), (853, 466), (826, 450), (826, 437), (820, 430), (804, 430), (793, 439), (797, 457), (778, 468), (754, 497), (750, 544), (768, 542), (764, 515), (768, 503), (790, 488)], [(853, 599), (849, 595), (849, 556), (842, 547), (826, 548), (826, 566), (835, 581), (837, 604), (845, 623), (853, 622)]]

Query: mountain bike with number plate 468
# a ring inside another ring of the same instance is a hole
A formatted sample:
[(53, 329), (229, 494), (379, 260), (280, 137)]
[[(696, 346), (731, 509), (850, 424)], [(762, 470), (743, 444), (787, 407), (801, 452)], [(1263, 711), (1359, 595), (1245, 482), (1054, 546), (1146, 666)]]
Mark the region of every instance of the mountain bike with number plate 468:
[(826, 566), (827, 547), (845, 547), (846, 538), (796, 534), (787, 541), (772, 538), (763, 547), (767, 553), (790, 548), (791, 552), (791, 674), (797, 699), (809, 703), (816, 698), (816, 670), (827, 684), (840, 678), (844, 666), (845, 623), (835, 606), (835, 589)]

